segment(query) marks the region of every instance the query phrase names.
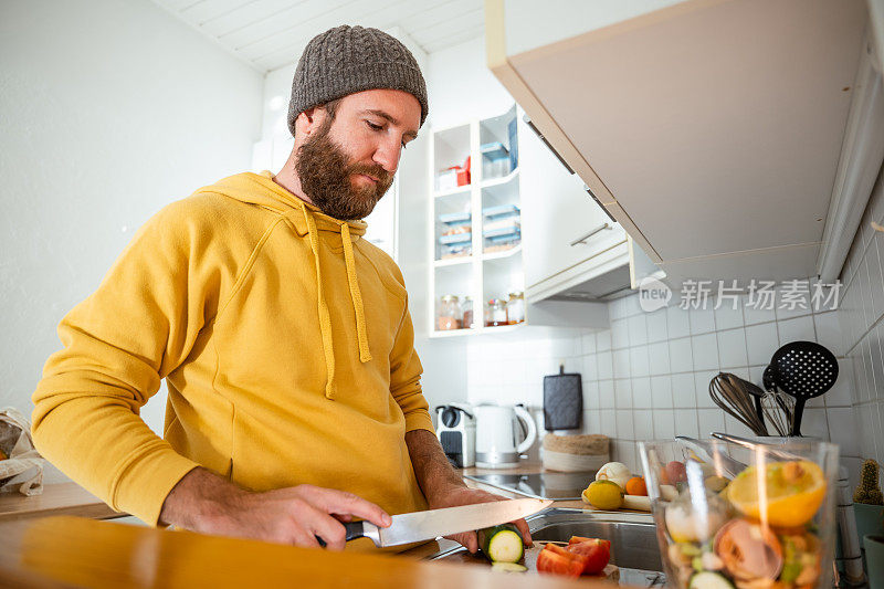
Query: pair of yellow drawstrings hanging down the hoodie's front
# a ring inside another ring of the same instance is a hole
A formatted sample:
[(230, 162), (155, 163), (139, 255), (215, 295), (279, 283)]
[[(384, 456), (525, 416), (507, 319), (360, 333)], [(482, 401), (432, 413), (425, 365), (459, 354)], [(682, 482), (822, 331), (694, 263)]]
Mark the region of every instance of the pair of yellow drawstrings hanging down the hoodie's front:
[[(332, 341), (332, 317), (328, 313), (328, 304), (325, 299), (323, 288), (323, 273), (319, 265), (319, 232), (316, 229), (316, 220), (306, 206), (301, 203), (301, 211), (304, 213), (304, 221), (307, 224), (307, 238), (313, 251), (313, 264), (316, 267), (316, 307), (319, 314), (319, 332), (323, 336), (323, 354), (325, 355), (325, 366), (328, 372), (328, 380), (325, 385), (326, 399), (335, 399), (335, 351)], [(362, 364), (371, 360), (371, 353), (368, 348), (368, 330), (366, 328), (366, 314), (362, 306), (362, 293), (359, 290), (359, 282), (356, 276), (356, 262), (352, 254), (352, 240), (350, 238), (349, 224), (341, 223), (340, 239), (344, 243), (344, 262), (347, 266), (347, 283), (350, 290), (350, 299), (356, 313), (356, 335), (359, 341), (359, 361)]]

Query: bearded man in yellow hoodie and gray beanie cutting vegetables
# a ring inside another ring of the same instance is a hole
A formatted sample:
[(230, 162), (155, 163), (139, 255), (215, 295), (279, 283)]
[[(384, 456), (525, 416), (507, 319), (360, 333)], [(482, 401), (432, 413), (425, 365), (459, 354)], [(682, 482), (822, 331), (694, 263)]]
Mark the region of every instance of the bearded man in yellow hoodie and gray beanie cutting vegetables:
[[(361, 239), (427, 113), (392, 36), (311, 41), (280, 173), (166, 207), (62, 320), (33, 396), (43, 455), (152, 525), (332, 549), (352, 517), (498, 499), (448, 464), (402, 275)], [(160, 440), (138, 412), (162, 378)], [(455, 539), (476, 549), (474, 533)]]

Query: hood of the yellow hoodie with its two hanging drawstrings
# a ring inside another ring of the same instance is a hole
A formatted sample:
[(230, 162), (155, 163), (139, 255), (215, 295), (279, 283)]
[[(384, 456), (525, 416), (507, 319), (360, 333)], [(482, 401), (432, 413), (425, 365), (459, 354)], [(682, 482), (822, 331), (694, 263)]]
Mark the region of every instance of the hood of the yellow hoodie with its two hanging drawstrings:
[(319, 261), (319, 249), (323, 246), (323, 241), (319, 240), (319, 232), (330, 231), (340, 234), (340, 241), (344, 245), (345, 267), (347, 269), (347, 285), (349, 286), (350, 301), (352, 301), (352, 308), (356, 314), (359, 361), (365, 364), (371, 361), (371, 353), (368, 347), (365, 306), (362, 304), (362, 293), (359, 288), (359, 280), (356, 274), (352, 243), (365, 234), (366, 228), (368, 227), (367, 223), (361, 220), (340, 221), (325, 214), (315, 206), (304, 202), (295, 194), (274, 182), (273, 173), (267, 170), (261, 173), (243, 172), (229, 176), (212, 186), (207, 186), (197, 190), (197, 193), (200, 192), (220, 193), (249, 204), (262, 207), (282, 215), (298, 236), (306, 236), (309, 240), (311, 250), (313, 251), (314, 267), (316, 270), (316, 312), (319, 316), (323, 353), (325, 355), (326, 372), (328, 375), (325, 396), (327, 399), (334, 400), (336, 395), (335, 350), (332, 341), (332, 318), (328, 313), (326, 290), (323, 285), (323, 269)]

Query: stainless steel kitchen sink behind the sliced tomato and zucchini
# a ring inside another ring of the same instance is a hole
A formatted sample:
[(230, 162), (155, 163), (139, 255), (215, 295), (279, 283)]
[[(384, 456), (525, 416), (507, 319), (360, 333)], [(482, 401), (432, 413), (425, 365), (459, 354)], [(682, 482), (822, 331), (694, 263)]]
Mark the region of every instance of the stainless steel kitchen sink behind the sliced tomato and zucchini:
[[(635, 587), (664, 586), (663, 564), (651, 514), (589, 512), (549, 508), (526, 518), (535, 544), (568, 543), (571, 536), (611, 540), (611, 564), (620, 568), (620, 582)], [(431, 560), (483, 562), (457, 546), (429, 557)], [(527, 561), (527, 557), (526, 557)], [(527, 564), (527, 562), (526, 562)]]

